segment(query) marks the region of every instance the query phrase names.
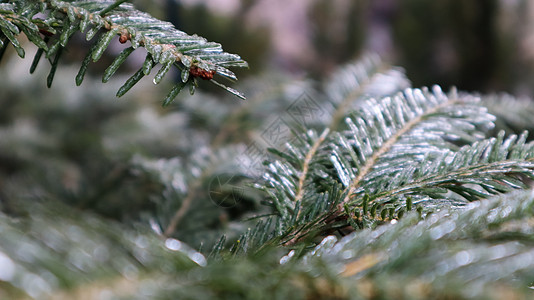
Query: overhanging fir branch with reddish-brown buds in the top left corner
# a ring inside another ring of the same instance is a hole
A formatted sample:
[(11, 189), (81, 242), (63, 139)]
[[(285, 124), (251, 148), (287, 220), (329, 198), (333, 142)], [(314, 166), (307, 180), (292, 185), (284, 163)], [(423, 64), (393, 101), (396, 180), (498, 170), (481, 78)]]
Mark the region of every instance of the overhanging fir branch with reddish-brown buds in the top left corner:
[[(153, 79), (154, 84), (159, 84), (173, 67), (180, 72), (182, 79), (182, 82), (171, 89), (163, 105), (171, 103), (186, 85), (194, 92), (197, 78), (209, 80), (244, 99), (240, 92), (213, 79), (218, 74), (230, 80), (237, 80), (228, 68), (247, 67), (247, 63), (239, 56), (224, 52), (218, 43), (208, 42), (196, 35), (187, 35), (175, 29), (172, 24), (155, 19), (123, 2), (41, 0), (1, 3), (0, 53), (5, 51), (9, 40), (18, 55), (24, 57), (24, 49), (16, 36), (21, 32), (25, 33), (28, 39), (42, 50), (35, 56), (32, 71), (35, 70), (43, 52), (48, 59), (53, 58), (48, 77), (50, 86), (61, 57), (61, 49), (67, 46), (73, 34), (78, 31), (85, 32), (87, 40), (98, 36), (76, 76), (76, 84), (80, 85), (88, 64), (98, 61), (112, 39), (119, 36), (121, 43), (130, 41), (131, 46), (119, 54), (104, 72), (103, 82), (113, 76), (135, 49), (143, 47), (148, 55), (143, 67), (126, 81), (117, 96), (124, 95), (139, 80), (149, 75), (155, 65), (161, 64), (162, 67)], [(40, 15), (36, 17), (38, 13)], [(45, 18), (42, 19), (41, 16)], [(46, 35), (46, 38), (42, 38), (41, 34)]]

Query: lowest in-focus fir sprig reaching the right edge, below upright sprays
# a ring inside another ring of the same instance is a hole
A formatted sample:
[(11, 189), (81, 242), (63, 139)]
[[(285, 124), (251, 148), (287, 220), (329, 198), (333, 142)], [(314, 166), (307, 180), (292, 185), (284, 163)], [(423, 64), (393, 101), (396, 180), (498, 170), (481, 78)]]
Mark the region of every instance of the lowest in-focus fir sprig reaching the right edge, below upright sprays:
[[(534, 144), (525, 144), (526, 133), (511, 135), (504, 139), (504, 132), (497, 138), (490, 138), (462, 147), (457, 152), (424, 161), (421, 165), (407, 168), (399, 177), (408, 177), (399, 182), (381, 185), (386, 198), (401, 193), (430, 194), (440, 198), (439, 187), (451, 190), (469, 201), (485, 198), (510, 188), (525, 188), (525, 179), (534, 176)], [(526, 178), (521, 179), (521, 176)], [(412, 183), (408, 183), (412, 182)], [(478, 185), (487, 193), (465, 185)], [(465, 189), (463, 188), (465, 186)], [(445, 195), (443, 195), (445, 197)], [(451, 198), (450, 195), (447, 195)]]

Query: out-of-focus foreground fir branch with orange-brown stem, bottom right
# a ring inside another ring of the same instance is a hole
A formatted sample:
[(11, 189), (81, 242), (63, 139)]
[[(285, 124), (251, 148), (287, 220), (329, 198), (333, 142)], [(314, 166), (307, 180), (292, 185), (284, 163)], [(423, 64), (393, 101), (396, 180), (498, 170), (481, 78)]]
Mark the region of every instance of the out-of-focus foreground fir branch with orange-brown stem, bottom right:
[[(306, 255), (304, 268), (336, 266), (353, 284), (371, 281), (375, 293), (394, 282), (423, 281), (432, 294), (499, 298), (485, 293), (502, 284), (521, 294), (534, 279), (531, 257), (534, 193), (519, 191), (445, 209), (420, 221), (410, 215), (397, 224), (365, 230), (341, 240), (327, 237)], [(517, 226), (517, 224), (523, 224)], [(384, 251), (384, 249), (388, 249)], [(490, 272), (489, 270), (499, 270)], [(396, 285), (393, 285), (396, 286)], [(473, 291), (473, 287), (477, 288)], [(404, 290), (413, 293), (414, 290)], [(474, 295), (473, 295), (474, 294)], [(483, 296), (484, 295), (484, 296)]]

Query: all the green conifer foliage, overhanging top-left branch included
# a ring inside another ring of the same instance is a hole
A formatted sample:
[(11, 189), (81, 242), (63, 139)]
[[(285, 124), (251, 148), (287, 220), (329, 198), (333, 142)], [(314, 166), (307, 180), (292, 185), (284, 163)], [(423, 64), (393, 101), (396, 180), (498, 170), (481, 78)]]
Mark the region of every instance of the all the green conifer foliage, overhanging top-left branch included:
[[(155, 64), (155, 82), (174, 66), (182, 81), (164, 104), (196, 78), (235, 79), (227, 68), (246, 65), (122, 2), (2, 1), (0, 49), (12, 45), (23, 57), (25, 33), (41, 49), (32, 70), (46, 57), (51, 82), (74, 32), (99, 36), (81, 82), (118, 36), (132, 47), (104, 81), (145, 47), (144, 65), (119, 94)], [(46, 157), (68, 132), (47, 143), (39, 126), (1, 124), (0, 161), (14, 159), (11, 168), (0, 165), (9, 181), (0, 182), (0, 298), (532, 297), (532, 101), (414, 88), (375, 55), (324, 84), (274, 77), (245, 82), (246, 105), (197, 93), (166, 116), (146, 103), (117, 113), (106, 102), (65, 108), (58, 100), (59, 108), (47, 107), (56, 119), (107, 116), (91, 139), (103, 141), (91, 148), (98, 155), (88, 155), (101, 166), (82, 164), (87, 175), (77, 176), (89, 182), (69, 182), (71, 190), (61, 168), (71, 170), (74, 159)], [(0, 117), (23, 114), (17, 105)], [(283, 143), (267, 141), (273, 123), (261, 116), (289, 127)], [(72, 130), (83, 134), (81, 127)], [(271, 148), (262, 151), (265, 144)], [(21, 165), (44, 183), (28, 188), (30, 175), (14, 171)]]

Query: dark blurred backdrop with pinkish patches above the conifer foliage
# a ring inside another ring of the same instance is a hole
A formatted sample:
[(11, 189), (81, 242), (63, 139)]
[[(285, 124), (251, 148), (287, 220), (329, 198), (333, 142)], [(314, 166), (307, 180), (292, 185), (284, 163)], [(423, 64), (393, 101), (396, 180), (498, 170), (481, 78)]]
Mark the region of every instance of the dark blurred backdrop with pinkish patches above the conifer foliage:
[(152, 13), (247, 59), (251, 72), (242, 77), (274, 68), (322, 78), (374, 52), (404, 67), (414, 86), (533, 92), (528, 0), (166, 0), (163, 7)]

